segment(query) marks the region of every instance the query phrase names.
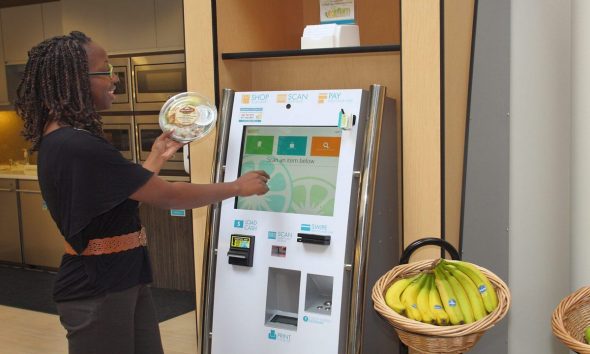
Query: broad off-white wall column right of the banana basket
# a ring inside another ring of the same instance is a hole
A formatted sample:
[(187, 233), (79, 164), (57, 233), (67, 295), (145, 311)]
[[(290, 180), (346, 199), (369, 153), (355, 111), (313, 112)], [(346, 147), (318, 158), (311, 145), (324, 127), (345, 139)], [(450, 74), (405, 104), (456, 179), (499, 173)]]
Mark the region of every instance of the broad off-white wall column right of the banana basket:
[(551, 314), (570, 292), (571, 2), (512, 1), (510, 354), (567, 352)]

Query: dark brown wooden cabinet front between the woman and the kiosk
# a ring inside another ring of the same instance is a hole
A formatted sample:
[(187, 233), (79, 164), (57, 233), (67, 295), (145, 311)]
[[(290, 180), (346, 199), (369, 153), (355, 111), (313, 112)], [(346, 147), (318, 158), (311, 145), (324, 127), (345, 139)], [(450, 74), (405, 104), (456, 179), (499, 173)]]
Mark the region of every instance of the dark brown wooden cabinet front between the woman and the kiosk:
[(184, 212), (185, 216), (171, 216), (170, 210), (145, 203), (139, 208), (155, 287), (195, 291), (192, 211)]

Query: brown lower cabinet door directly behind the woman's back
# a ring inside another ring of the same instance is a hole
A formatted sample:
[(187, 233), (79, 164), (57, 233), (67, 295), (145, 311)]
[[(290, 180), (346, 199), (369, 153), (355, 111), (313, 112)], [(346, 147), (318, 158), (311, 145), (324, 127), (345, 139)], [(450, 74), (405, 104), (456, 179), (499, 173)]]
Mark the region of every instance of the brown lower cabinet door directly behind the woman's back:
[(57, 268), (64, 253), (64, 239), (49, 214), (37, 181), (20, 180), (21, 234), (24, 263)]

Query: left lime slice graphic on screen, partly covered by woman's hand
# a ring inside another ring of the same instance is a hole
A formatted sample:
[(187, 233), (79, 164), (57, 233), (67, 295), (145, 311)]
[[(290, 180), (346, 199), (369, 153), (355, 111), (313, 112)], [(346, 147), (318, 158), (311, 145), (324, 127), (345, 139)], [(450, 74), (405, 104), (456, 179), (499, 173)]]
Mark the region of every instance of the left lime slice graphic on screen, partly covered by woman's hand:
[(281, 163), (271, 163), (266, 157), (247, 156), (242, 162), (242, 174), (264, 170), (270, 176), (268, 193), (238, 198), (238, 209), (286, 212), (291, 203), (291, 176)]

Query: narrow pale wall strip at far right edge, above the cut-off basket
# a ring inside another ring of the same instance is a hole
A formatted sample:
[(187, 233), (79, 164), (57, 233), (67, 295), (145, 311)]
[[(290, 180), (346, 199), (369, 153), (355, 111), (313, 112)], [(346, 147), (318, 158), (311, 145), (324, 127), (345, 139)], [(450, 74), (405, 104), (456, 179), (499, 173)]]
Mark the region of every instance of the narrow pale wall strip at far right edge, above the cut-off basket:
[(590, 285), (590, 1), (572, 0), (572, 291)]

